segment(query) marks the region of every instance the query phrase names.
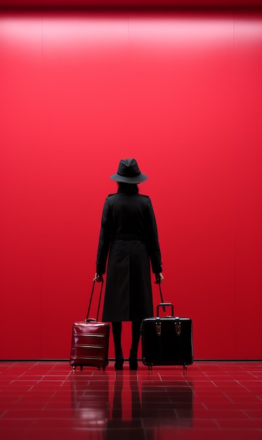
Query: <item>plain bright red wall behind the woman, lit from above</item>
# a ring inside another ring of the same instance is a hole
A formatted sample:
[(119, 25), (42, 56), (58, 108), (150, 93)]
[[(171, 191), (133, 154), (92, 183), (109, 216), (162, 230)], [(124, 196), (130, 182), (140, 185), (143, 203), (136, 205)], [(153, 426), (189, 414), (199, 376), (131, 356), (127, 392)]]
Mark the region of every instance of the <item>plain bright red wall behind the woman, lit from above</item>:
[(261, 358), (261, 53), (257, 11), (2, 11), (1, 358), (69, 357), (130, 156), (195, 358)]

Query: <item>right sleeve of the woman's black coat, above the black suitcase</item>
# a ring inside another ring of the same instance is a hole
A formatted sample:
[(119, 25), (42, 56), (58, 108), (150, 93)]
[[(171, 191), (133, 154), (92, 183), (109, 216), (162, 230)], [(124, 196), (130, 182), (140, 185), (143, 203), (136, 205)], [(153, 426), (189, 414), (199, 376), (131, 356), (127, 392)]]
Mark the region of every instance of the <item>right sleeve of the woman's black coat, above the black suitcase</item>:
[(158, 241), (157, 222), (152, 207), (152, 202), (148, 198), (147, 206), (147, 244), (153, 273), (162, 272), (161, 252)]

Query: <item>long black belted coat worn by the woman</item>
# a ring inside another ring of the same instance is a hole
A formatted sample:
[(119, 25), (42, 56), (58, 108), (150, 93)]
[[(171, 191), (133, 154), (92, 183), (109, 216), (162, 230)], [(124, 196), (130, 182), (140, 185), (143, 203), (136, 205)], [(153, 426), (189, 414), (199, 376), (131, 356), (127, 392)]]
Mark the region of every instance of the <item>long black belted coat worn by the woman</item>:
[(142, 321), (153, 316), (150, 263), (153, 273), (162, 272), (150, 198), (121, 190), (109, 195), (96, 261), (99, 274), (105, 273), (107, 264), (103, 321)]

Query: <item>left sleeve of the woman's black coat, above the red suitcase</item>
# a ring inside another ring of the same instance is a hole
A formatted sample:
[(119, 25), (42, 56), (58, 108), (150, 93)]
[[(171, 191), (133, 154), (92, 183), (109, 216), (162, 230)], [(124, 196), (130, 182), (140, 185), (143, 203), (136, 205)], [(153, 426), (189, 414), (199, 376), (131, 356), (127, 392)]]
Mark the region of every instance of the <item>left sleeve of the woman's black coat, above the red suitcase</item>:
[(96, 272), (102, 275), (105, 273), (107, 256), (112, 238), (112, 212), (108, 198), (105, 199), (101, 219), (100, 237), (98, 242), (98, 254), (96, 258)]

